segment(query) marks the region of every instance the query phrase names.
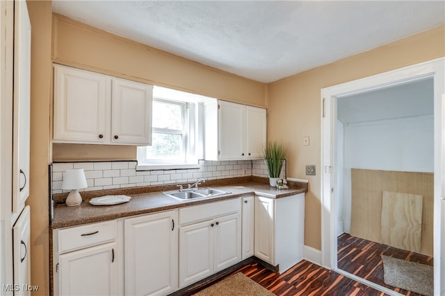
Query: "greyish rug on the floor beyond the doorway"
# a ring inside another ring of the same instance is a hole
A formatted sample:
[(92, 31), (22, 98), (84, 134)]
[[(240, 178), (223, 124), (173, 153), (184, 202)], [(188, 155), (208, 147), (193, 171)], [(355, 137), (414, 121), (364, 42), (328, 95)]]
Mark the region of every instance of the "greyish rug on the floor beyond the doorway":
[(432, 266), (382, 255), (385, 284), (422, 295), (434, 294)]

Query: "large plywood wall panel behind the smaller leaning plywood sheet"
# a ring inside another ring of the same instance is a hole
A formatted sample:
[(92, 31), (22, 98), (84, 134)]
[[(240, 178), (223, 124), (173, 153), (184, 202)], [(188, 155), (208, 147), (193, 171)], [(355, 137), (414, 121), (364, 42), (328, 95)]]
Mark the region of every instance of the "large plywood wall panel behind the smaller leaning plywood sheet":
[(400, 171), (351, 169), (350, 234), (382, 242), (382, 193), (394, 191), (422, 195), (422, 233), (420, 254), (432, 256), (434, 174)]

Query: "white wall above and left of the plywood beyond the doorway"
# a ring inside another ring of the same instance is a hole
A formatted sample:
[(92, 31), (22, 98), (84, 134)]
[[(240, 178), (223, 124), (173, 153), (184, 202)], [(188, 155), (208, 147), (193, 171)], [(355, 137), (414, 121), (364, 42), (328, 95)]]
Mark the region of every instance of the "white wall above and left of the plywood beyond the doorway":
[[(347, 225), (350, 229), (350, 169), (434, 172), (433, 119), (433, 116), (418, 116), (410, 119), (345, 125), (343, 148), (345, 232), (349, 233)], [(339, 139), (338, 131), (337, 139)]]

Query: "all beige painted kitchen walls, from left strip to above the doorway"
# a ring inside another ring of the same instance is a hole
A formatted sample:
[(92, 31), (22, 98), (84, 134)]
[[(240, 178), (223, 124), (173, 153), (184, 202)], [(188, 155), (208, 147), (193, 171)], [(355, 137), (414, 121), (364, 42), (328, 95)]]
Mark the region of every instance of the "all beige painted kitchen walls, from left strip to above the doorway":
[[(49, 293), (48, 174), (51, 162), (51, 2), (28, 1), (32, 26), (31, 252), (32, 284)], [(288, 176), (309, 179), (305, 244), (321, 249), (321, 99), (323, 87), (444, 56), (444, 26), (372, 51), (264, 85), (151, 49), (64, 17), (53, 20), (55, 62), (268, 107), (268, 139), (288, 147)], [(269, 97), (269, 98), (268, 98)], [(309, 135), (310, 146), (302, 146)], [(96, 146), (95, 146), (96, 147)], [(60, 150), (61, 149), (61, 150)], [(90, 147), (54, 146), (54, 155), (99, 160)], [(134, 159), (134, 148), (106, 148), (107, 157)], [(115, 153), (115, 154), (113, 154)], [(73, 159), (70, 159), (73, 160)], [(317, 175), (305, 175), (316, 164)]]

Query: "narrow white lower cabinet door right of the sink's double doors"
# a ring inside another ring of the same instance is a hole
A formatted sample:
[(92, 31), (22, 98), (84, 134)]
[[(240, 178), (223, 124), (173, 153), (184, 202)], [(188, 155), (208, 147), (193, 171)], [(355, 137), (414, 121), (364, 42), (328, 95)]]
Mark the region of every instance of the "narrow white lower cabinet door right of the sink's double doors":
[(247, 259), (254, 254), (254, 197), (246, 196), (243, 198), (243, 216), (242, 219), (242, 244), (241, 259)]

